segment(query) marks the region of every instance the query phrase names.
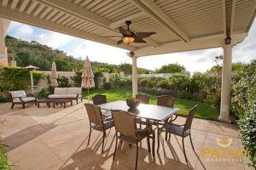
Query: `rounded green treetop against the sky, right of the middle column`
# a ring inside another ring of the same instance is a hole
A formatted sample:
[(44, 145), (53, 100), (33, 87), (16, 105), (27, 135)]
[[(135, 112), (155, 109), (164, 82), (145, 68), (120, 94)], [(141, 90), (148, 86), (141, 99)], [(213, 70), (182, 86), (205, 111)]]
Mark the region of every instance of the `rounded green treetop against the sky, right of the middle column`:
[(169, 64), (163, 65), (159, 70), (155, 70), (156, 73), (185, 73), (186, 68), (183, 65)]

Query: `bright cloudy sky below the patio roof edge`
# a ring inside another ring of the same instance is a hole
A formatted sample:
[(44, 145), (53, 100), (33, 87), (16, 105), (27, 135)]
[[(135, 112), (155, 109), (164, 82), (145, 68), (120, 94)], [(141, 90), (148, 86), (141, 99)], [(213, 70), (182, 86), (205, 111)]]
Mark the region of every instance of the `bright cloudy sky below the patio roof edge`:
[[(89, 57), (90, 61), (119, 65), (130, 63), (131, 58), (126, 55), (127, 50), (115, 48), (98, 42), (91, 42), (78, 37), (72, 37), (55, 31), (44, 30), (35, 26), (12, 21), (7, 33), (9, 36), (24, 41), (36, 41), (51, 48), (58, 48), (77, 59)], [(256, 21), (245, 40), (233, 48), (233, 62), (248, 63), (256, 59)], [(210, 48), (183, 53), (160, 54), (137, 59), (137, 66), (154, 70), (162, 65), (178, 63), (186, 67), (191, 73), (207, 71), (216, 65), (215, 56), (223, 54), (222, 48)]]

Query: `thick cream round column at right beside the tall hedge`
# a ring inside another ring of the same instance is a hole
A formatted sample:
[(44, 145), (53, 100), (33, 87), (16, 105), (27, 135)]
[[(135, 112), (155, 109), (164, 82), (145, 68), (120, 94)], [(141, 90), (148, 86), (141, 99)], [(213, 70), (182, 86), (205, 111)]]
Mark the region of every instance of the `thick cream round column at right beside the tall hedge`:
[(220, 116), (218, 120), (230, 122), (230, 92), (232, 78), (232, 45), (224, 45), (222, 85), (221, 85), (221, 104)]

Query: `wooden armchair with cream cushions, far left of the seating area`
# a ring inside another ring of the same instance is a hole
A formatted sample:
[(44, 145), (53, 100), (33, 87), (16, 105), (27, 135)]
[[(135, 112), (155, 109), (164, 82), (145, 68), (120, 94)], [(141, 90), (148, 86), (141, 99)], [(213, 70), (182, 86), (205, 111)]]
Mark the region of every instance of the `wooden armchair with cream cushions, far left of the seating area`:
[(11, 109), (13, 109), (15, 105), (22, 105), (23, 109), (25, 109), (25, 104), (28, 103), (37, 105), (37, 99), (32, 94), (26, 95), (24, 90), (10, 91), (9, 94), (12, 99)]

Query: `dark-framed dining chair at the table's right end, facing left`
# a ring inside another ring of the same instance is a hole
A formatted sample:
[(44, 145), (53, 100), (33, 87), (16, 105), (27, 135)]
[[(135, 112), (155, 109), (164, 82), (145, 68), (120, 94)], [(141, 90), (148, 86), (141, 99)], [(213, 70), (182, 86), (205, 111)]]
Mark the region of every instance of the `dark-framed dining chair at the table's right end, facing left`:
[(173, 122), (166, 122), (163, 127), (158, 128), (157, 130), (157, 152), (159, 152), (159, 147), (160, 147), (160, 133), (166, 132), (166, 133), (173, 133), (177, 136), (180, 136), (183, 138), (183, 154), (185, 156), (186, 162), (188, 162), (188, 158), (186, 156), (186, 151), (184, 147), (184, 138), (189, 136), (190, 143), (192, 145), (192, 149), (195, 151), (194, 145), (192, 143), (191, 139), (191, 125), (193, 121), (193, 117), (195, 116), (195, 111), (196, 111), (197, 105), (195, 105), (192, 109), (189, 110), (189, 114), (187, 116), (187, 119), (184, 124), (182, 125), (177, 125), (174, 124)]

